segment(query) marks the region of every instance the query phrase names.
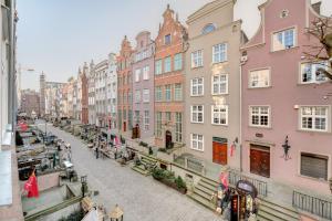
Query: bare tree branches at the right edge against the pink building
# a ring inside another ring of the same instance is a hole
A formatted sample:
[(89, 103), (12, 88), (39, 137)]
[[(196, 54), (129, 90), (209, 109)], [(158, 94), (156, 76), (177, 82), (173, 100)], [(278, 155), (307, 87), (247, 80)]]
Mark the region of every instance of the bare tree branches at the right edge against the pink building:
[(305, 59), (324, 66), (318, 69), (317, 74), (324, 74), (332, 80), (332, 17), (317, 18), (307, 29), (307, 33), (318, 41), (304, 45), (308, 49), (303, 52)]

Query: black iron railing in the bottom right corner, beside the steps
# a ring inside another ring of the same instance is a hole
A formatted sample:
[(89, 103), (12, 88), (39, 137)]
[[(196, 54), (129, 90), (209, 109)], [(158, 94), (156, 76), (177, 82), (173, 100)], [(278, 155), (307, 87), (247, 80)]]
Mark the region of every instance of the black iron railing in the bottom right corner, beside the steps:
[(294, 208), (332, 220), (332, 201), (293, 191), (292, 202)]

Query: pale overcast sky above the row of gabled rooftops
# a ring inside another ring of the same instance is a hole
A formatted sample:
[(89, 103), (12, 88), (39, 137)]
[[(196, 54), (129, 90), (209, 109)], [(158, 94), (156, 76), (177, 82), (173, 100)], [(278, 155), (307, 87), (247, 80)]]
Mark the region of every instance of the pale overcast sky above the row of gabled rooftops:
[[(39, 90), (39, 73), (46, 81), (65, 82), (92, 59), (97, 62), (118, 52), (126, 34), (132, 43), (138, 32), (156, 36), (167, 3), (180, 21), (211, 0), (17, 0), (18, 63), (22, 88)], [(258, 29), (257, 7), (264, 0), (238, 0), (235, 19), (251, 36)], [(317, 1), (317, 0), (314, 0)], [(250, 3), (249, 3), (250, 2)], [(322, 13), (332, 14), (332, 0), (322, 0)], [(24, 69), (34, 69), (35, 73)]]

